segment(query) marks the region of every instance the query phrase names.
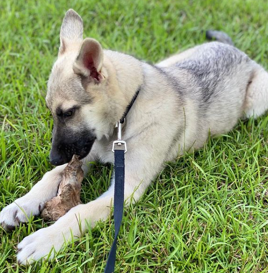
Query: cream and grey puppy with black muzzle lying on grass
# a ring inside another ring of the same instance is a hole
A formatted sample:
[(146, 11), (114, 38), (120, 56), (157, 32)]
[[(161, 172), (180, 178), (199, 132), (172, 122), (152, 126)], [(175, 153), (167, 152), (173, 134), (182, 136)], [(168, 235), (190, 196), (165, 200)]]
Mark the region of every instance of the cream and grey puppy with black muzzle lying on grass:
[[(88, 162), (114, 162), (115, 125), (138, 90), (122, 132), (128, 145), (126, 203), (141, 197), (166, 161), (202, 148), (209, 133), (226, 133), (239, 118), (259, 116), (268, 108), (268, 74), (230, 44), (205, 43), (151, 65), (83, 39), (82, 19), (69, 10), (46, 96), (54, 119), (50, 161), (58, 167), (2, 210), (5, 229), (39, 214), (57, 194), (62, 170), (74, 154), (82, 158), (85, 173)], [(26, 237), (18, 245), (19, 263), (47, 257), (54, 247), (53, 257), (72, 236), (85, 232), (86, 223), (94, 227), (106, 220), (113, 196), (112, 179), (99, 198)]]

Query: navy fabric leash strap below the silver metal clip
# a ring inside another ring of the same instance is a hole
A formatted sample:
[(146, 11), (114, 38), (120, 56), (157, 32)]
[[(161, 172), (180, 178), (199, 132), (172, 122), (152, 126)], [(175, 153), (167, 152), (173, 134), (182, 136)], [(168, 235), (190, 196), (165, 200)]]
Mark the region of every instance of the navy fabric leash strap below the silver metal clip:
[(124, 210), (124, 180), (125, 180), (125, 155), (124, 150), (115, 150), (115, 195), (114, 195), (114, 220), (115, 238), (110, 250), (105, 273), (115, 270), (116, 244)]

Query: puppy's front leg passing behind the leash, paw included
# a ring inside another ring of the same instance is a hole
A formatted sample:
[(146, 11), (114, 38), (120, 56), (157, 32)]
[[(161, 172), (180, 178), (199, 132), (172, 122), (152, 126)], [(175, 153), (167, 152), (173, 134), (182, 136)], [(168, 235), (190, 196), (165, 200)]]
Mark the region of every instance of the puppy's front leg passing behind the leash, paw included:
[[(157, 166), (152, 166), (152, 161), (142, 162), (126, 160), (125, 170), (125, 200), (138, 200), (145, 191), (147, 185), (156, 173)], [(150, 164), (151, 163), (151, 164)], [(158, 165), (158, 167), (160, 167)], [(87, 204), (80, 204), (72, 208), (66, 215), (61, 217), (55, 224), (43, 228), (26, 237), (18, 245), (19, 263), (31, 263), (48, 255), (50, 258), (59, 251), (61, 247), (72, 239), (80, 237), (86, 228), (94, 227), (99, 220), (106, 220), (111, 212), (114, 197), (114, 181), (107, 192), (98, 199)]]

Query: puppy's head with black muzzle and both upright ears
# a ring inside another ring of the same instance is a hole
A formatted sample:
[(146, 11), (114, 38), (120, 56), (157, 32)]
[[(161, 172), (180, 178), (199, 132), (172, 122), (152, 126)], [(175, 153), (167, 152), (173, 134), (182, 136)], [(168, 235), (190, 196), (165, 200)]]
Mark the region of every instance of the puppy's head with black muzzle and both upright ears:
[(95, 140), (108, 134), (110, 85), (100, 43), (90, 38), (83, 40), (82, 19), (69, 10), (61, 26), (58, 59), (46, 96), (54, 119), (52, 164), (69, 162), (74, 154), (84, 158)]

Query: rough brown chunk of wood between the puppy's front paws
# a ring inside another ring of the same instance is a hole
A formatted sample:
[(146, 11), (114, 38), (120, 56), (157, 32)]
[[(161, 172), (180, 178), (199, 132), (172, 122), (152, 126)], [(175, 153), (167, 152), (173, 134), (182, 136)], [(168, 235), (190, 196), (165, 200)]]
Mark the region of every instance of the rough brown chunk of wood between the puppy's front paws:
[(71, 208), (81, 203), (80, 190), (83, 180), (82, 161), (74, 155), (62, 172), (58, 195), (48, 200), (41, 213), (41, 217), (49, 221), (57, 221)]

